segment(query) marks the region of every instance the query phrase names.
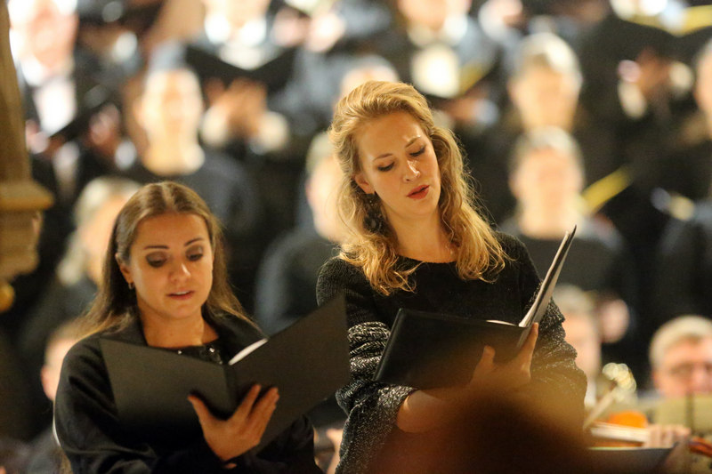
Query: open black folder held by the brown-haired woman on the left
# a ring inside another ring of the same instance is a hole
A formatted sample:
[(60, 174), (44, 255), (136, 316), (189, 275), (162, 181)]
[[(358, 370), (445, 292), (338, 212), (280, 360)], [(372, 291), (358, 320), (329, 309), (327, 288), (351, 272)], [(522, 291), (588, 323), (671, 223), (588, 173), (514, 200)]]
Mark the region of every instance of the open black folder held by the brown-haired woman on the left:
[(101, 352), (120, 422), (147, 436), (199, 432), (186, 399), (190, 393), (203, 398), (214, 414), (228, 417), (253, 384), (265, 390), (277, 386), (279, 402), (257, 449), (349, 380), (343, 295), (230, 365), (108, 338), (101, 340)]

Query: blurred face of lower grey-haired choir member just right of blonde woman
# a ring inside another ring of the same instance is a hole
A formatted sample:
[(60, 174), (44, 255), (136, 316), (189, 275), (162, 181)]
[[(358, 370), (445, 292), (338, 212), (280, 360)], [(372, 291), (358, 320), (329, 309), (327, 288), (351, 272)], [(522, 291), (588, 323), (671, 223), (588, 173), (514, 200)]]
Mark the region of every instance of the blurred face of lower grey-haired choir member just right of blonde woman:
[(578, 201), (583, 176), (574, 157), (557, 149), (538, 149), (522, 158), (510, 185), (522, 208), (555, 213)]

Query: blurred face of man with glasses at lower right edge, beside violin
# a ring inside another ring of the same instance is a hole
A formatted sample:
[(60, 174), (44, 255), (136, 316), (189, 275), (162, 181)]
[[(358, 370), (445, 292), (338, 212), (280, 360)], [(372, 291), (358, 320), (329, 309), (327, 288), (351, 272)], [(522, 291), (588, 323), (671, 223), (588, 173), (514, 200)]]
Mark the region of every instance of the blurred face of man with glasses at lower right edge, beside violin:
[(712, 393), (712, 337), (680, 341), (667, 349), (652, 380), (665, 398)]

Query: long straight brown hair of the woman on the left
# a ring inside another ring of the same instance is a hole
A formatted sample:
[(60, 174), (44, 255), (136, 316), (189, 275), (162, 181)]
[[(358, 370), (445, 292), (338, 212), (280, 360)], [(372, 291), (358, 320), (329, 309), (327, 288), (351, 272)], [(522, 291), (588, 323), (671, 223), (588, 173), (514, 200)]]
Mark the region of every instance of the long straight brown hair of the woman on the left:
[(143, 186), (118, 213), (104, 258), (99, 293), (84, 317), (85, 335), (125, 327), (139, 316), (136, 294), (128, 287), (118, 261), (131, 260), (131, 245), (139, 224), (166, 213), (195, 214), (206, 222), (214, 262), (213, 286), (203, 307), (204, 314), (219, 317), (228, 313), (247, 319), (228, 282), (220, 223), (195, 191), (182, 184), (163, 181)]

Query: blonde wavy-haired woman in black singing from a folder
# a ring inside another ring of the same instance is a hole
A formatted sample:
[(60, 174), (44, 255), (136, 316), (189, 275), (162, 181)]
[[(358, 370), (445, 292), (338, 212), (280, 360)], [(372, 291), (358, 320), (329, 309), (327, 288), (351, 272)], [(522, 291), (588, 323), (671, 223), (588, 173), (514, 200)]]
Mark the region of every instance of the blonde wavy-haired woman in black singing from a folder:
[(580, 413), (586, 379), (554, 304), (512, 361), (496, 364), (486, 348), (466, 386), (371, 381), (401, 307), (518, 323), (539, 279), (522, 244), (477, 213), (457, 141), (433, 125), (412, 86), (355, 88), (339, 102), (330, 136), (344, 172), (338, 205), (347, 237), (321, 269), (317, 293), (320, 302), (340, 291), (347, 300), (352, 380), (337, 393), (348, 414), (339, 470), (454, 471), (453, 460), (433, 454), (433, 434), (457, 427), (482, 395), (555, 397)]

